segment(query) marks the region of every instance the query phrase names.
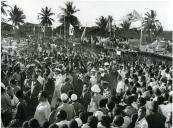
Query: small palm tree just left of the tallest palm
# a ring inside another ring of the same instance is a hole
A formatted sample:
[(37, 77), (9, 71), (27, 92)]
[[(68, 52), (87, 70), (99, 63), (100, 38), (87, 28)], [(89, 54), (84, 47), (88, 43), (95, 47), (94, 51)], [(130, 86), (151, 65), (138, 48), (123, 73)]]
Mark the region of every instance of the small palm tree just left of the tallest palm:
[(49, 9), (48, 7), (45, 7), (41, 9), (41, 13), (39, 14), (39, 19), (41, 19), (40, 24), (43, 26), (51, 26), (52, 22), (55, 20), (51, 18), (52, 15), (55, 15), (54, 13), (51, 12), (51, 8)]

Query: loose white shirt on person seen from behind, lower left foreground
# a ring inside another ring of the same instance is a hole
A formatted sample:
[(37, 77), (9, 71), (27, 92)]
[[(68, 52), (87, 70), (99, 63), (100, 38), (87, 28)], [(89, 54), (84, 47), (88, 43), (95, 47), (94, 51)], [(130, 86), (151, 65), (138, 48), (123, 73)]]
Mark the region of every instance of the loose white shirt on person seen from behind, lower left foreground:
[(42, 127), (44, 122), (48, 120), (50, 113), (51, 108), (49, 102), (40, 102), (36, 108), (34, 118), (38, 120)]

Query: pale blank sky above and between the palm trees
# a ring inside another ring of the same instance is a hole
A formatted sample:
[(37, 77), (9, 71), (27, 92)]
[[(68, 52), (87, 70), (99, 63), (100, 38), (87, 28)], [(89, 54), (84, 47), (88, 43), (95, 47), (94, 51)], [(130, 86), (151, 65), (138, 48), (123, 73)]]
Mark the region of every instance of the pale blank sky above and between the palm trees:
[[(31, 23), (39, 23), (37, 16), (42, 7), (52, 8), (56, 14), (53, 16), (55, 19), (53, 26), (60, 25), (57, 15), (61, 13), (60, 7), (64, 7), (65, 1), (67, 0), (7, 0), (10, 6), (17, 5), (21, 8), (26, 15), (25, 21)], [(157, 12), (157, 18), (161, 21), (164, 30), (173, 30), (171, 0), (73, 0), (73, 2), (76, 8), (80, 9), (76, 16), (82, 26), (86, 24), (94, 26), (97, 18), (108, 15), (112, 15), (114, 24), (118, 25), (119, 20), (134, 9), (142, 16), (152, 9)]]

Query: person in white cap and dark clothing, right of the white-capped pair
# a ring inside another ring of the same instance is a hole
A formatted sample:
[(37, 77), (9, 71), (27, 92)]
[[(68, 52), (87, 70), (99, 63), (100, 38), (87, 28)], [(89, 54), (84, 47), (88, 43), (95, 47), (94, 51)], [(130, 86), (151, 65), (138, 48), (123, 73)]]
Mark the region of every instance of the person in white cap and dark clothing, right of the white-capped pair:
[(78, 116), (80, 112), (84, 111), (84, 107), (77, 101), (78, 97), (76, 94), (71, 95), (72, 105), (74, 106), (75, 114)]

